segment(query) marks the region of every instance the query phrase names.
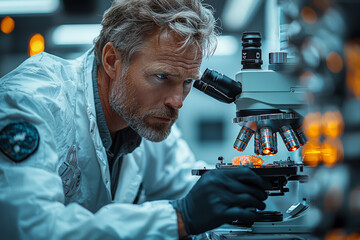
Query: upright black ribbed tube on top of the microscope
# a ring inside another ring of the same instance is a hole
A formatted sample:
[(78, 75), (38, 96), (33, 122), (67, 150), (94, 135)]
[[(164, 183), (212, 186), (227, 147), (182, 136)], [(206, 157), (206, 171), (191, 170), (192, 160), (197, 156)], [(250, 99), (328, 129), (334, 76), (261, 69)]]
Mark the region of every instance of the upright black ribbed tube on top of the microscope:
[(259, 32), (244, 32), (242, 36), (243, 69), (261, 69), (261, 34)]

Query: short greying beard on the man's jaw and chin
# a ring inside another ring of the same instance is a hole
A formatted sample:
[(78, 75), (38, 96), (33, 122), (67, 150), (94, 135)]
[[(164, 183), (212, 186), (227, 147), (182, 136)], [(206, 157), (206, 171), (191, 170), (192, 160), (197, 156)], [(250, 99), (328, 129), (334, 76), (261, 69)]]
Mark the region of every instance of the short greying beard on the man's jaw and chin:
[[(164, 140), (178, 118), (178, 110), (167, 106), (162, 109), (143, 109), (135, 97), (135, 87), (130, 82), (126, 76), (116, 80), (109, 96), (111, 108), (141, 137), (152, 142)], [(151, 117), (170, 119), (170, 122), (150, 123)]]

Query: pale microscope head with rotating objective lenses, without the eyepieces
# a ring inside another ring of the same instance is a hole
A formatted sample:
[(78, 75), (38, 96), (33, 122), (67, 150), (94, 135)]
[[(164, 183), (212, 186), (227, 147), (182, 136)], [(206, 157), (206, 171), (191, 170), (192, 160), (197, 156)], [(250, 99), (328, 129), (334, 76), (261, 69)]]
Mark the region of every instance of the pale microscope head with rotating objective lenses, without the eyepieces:
[(236, 81), (242, 85), (233, 119), (242, 127), (234, 143), (236, 150), (244, 151), (253, 134), (254, 152), (259, 156), (277, 153), (277, 132), (289, 151), (306, 143), (301, 128), (306, 89), (296, 79), (285, 70), (249, 69), (238, 72)]

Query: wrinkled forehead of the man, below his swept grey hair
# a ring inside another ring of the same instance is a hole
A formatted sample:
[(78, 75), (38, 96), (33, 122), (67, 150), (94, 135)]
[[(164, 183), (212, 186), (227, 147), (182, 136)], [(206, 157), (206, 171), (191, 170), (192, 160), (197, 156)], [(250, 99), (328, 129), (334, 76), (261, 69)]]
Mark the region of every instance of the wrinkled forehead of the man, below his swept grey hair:
[(172, 71), (184, 78), (198, 78), (202, 51), (198, 46), (180, 49), (183, 41), (174, 33), (155, 31), (145, 39), (133, 60), (140, 61), (145, 68)]

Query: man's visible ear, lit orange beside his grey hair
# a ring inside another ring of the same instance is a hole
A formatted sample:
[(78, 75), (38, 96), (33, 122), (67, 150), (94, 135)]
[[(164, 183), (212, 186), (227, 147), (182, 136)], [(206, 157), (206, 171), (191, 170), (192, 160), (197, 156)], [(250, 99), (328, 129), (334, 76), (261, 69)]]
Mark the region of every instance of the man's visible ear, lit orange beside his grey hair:
[(108, 42), (103, 48), (102, 64), (110, 79), (115, 79), (116, 72), (121, 71), (121, 55), (112, 42)]

